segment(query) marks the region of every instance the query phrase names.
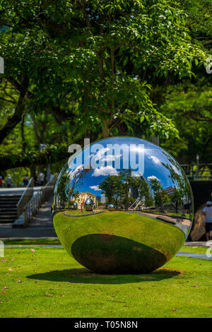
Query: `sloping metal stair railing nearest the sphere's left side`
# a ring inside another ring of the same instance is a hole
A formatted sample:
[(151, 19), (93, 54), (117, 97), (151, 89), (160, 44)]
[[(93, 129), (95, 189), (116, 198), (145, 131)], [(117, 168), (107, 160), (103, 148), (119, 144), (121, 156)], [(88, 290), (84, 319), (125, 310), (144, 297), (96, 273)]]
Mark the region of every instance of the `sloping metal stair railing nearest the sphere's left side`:
[(56, 179), (57, 174), (55, 174), (54, 177), (52, 177), (52, 179), (45, 184), (45, 186), (42, 186), (42, 188), (35, 193), (33, 198), (31, 198), (23, 208), (25, 226), (27, 226), (28, 221), (32, 220), (33, 216), (38, 213), (40, 206), (42, 206), (42, 204), (48, 201), (51, 197)]

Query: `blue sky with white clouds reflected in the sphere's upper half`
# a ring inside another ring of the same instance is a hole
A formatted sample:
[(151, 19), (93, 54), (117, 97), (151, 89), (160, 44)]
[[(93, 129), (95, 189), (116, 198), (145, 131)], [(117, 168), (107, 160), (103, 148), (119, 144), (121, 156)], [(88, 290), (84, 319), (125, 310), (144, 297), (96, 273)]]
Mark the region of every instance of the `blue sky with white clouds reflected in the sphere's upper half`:
[[(108, 148), (108, 146), (115, 143), (119, 144), (120, 146), (123, 146), (124, 144), (123, 150), (121, 149), (120, 153), (118, 154), (114, 153), (114, 150), (110, 150)], [(94, 146), (94, 144), (98, 144), (98, 146)], [(93, 143), (89, 147), (90, 150), (89, 148), (86, 148), (82, 151), (82, 153), (78, 154), (78, 159), (81, 160), (80, 164), (78, 165), (82, 165), (81, 163), (84, 162), (84, 157), (87, 153), (87, 160), (89, 160), (92, 165), (95, 165), (95, 167), (97, 167), (95, 168), (95, 170), (91, 170), (85, 175), (83, 179), (83, 184), (78, 188), (78, 190), (80, 192), (89, 191), (91, 194), (100, 196), (101, 191), (98, 190), (98, 184), (100, 184), (100, 182), (102, 182), (109, 175), (119, 174), (120, 170), (122, 170), (123, 162), (126, 162), (127, 158), (129, 159), (129, 162), (131, 162), (129, 155), (130, 145), (131, 149), (136, 147), (136, 162), (139, 162), (139, 153), (140, 157), (142, 157), (144, 160), (142, 175), (146, 179), (152, 176), (157, 177), (163, 188), (167, 188), (167, 186), (175, 186), (175, 184), (173, 184), (172, 182), (172, 179), (170, 179), (169, 177), (170, 171), (162, 165), (162, 162), (170, 165), (170, 161), (167, 159), (167, 156), (163, 152), (163, 149), (155, 146), (155, 144), (151, 142), (144, 141), (140, 138), (115, 137), (106, 138), (105, 140)], [(98, 147), (100, 148), (100, 150), (98, 150)], [(98, 150), (97, 153), (92, 153), (95, 148)], [(175, 167), (177, 162), (171, 156), (170, 158), (173, 161), (172, 168), (174, 168), (175, 172), (180, 174), (181, 171), (178, 169), (178, 167)], [(114, 167), (115, 160), (116, 162), (117, 160), (120, 160), (120, 168)], [(76, 159), (72, 160), (69, 163), (70, 174), (72, 174), (73, 172), (71, 168), (74, 168), (74, 162), (76, 162)], [(136, 172), (137, 170), (134, 169), (134, 171)], [(136, 172), (136, 176), (139, 176), (139, 174), (141, 174), (141, 172)]]

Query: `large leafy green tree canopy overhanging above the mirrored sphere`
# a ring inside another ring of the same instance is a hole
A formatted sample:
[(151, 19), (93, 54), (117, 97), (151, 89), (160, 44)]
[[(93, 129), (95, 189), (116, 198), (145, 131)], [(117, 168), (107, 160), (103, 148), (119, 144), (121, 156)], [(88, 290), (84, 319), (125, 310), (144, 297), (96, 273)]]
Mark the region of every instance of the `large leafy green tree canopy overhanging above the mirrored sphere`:
[[(201, 18), (204, 4), (211, 8), (208, 0), (196, 11), (180, 2), (182, 8), (169, 0), (0, 0), (5, 150), (22, 120), (28, 128), (25, 137), (17, 132), (22, 153), (48, 143), (57, 155), (61, 141), (83, 136), (179, 137), (172, 114), (159, 107), (167, 85), (203, 68), (208, 52), (195, 40), (201, 29), (196, 23), (194, 33), (188, 21)], [(206, 12), (205, 30), (209, 19)]]

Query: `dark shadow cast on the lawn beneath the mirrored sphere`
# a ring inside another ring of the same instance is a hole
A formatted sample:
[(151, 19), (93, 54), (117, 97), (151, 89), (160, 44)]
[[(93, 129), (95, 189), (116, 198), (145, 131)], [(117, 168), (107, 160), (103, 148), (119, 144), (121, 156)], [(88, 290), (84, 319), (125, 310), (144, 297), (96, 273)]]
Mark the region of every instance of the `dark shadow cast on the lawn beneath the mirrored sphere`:
[(179, 275), (177, 270), (160, 269), (153, 273), (136, 275), (102, 275), (88, 271), (86, 268), (71, 268), (70, 270), (57, 270), (45, 273), (28, 275), (27, 278), (35, 280), (49, 280), (69, 283), (98, 283), (98, 284), (123, 284), (141, 283), (142, 281), (158, 282)]

